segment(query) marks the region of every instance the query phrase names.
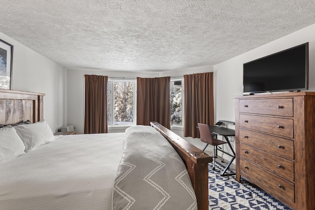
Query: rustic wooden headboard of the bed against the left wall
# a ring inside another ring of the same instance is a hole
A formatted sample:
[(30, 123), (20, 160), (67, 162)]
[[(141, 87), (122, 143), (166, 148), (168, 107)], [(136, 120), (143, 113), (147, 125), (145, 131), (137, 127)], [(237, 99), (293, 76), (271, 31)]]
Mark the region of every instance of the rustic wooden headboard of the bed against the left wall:
[(44, 93), (0, 89), (0, 124), (43, 119)]

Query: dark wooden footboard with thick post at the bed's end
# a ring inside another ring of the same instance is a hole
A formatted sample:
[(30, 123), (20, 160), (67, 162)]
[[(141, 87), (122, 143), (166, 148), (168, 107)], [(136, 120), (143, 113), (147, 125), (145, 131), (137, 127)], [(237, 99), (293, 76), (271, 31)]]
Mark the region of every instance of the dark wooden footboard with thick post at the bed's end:
[(151, 122), (151, 126), (157, 129), (168, 140), (185, 162), (196, 194), (198, 210), (208, 210), (208, 163), (212, 162), (212, 157), (158, 122)]

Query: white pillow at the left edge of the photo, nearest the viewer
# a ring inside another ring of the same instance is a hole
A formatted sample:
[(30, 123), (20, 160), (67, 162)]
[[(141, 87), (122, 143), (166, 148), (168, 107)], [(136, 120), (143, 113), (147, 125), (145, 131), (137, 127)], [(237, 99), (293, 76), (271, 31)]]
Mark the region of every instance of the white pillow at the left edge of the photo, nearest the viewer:
[(23, 154), (25, 146), (11, 125), (0, 128), (0, 164)]

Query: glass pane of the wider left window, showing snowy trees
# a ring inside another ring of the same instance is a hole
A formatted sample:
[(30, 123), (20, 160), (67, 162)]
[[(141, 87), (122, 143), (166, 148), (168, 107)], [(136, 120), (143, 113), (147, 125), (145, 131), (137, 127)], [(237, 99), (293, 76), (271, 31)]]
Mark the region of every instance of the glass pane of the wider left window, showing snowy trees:
[(114, 124), (133, 123), (133, 82), (114, 82)]

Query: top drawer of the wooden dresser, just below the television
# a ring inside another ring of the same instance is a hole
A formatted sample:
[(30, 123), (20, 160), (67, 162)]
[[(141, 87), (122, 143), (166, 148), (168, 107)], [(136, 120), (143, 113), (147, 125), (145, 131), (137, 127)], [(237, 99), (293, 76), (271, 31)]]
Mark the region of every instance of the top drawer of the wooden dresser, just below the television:
[(293, 117), (293, 98), (242, 99), (240, 112)]

